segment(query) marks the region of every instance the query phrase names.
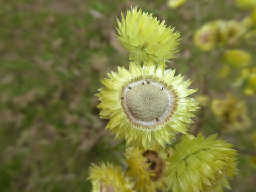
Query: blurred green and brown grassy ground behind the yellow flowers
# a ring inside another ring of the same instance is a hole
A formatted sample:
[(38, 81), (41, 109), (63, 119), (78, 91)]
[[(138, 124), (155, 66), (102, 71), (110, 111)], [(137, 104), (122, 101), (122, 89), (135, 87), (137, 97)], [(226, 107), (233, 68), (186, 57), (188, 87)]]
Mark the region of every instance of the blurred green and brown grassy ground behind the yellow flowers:
[[(0, 191), (90, 191), (91, 162), (122, 162), (124, 142), (103, 130), (106, 121), (98, 116), (94, 94), (106, 72), (128, 66), (114, 26), (121, 10), (135, 5), (180, 31), (181, 51), (169, 66), (191, 78), (198, 94), (244, 97), (230, 88), (231, 80), (215, 77), (221, 51), (204, 53), (192, 41), (204, 22), (248, 14), (233, 0), (188, 1), (178, 10), (169, 9), (166, 0), (0, 1)], [(255, 43), (243, 46), (255, 57)], [(245, 99), (255, 122), (255, 97)], [(205, 135), (221, 132), (211, 115), (200, 118)], [(221, 137), (255, 151), (249, 134)], [(242, 155), (234, 191), (256, 191), (248, 157)]]

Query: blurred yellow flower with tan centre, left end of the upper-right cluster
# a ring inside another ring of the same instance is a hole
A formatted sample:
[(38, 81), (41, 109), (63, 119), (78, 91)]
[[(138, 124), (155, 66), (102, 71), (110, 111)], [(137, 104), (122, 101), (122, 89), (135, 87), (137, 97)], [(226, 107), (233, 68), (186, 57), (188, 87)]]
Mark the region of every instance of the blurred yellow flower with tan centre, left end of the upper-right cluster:
[(205, 23), (194, 35), (196, 46), (203, 51), (210, 51), (216, 45), (216, 33), (215, 22)]

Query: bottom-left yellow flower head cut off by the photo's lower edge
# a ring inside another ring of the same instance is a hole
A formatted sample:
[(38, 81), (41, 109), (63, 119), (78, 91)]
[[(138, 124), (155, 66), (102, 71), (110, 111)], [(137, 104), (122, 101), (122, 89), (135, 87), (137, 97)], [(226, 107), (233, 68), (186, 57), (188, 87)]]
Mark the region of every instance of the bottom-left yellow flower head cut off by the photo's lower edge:
[(92, 192), (115, 191), (132, 192), (133, 185), (124, 177), (121, 167), (101, 163), (99, 166), (92, 164), (89, 168), (89, 178), (92, 182)]

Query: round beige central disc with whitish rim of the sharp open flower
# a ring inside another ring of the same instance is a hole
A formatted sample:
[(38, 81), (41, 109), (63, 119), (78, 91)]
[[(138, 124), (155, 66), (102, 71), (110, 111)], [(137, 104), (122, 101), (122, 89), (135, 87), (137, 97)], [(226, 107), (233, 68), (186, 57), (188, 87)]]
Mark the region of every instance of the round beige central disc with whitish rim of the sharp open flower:
[(127, 117), (137, 126), (154, 129), (175, 111), (176, 94), (155, 79), (137, 79), (123, 87), (122, 105)]

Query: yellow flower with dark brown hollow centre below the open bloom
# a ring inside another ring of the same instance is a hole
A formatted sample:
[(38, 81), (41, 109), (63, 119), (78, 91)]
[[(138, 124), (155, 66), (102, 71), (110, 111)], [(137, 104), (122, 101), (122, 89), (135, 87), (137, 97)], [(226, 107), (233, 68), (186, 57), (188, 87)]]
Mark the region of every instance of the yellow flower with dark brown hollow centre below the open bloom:
[(165, 163), (155, 151), (147, 150), (143, 153), (138, 148), (128, 148), (125, 157), (128, 165), (126, 174), (135, 182), (136, 191), (154, 192), (166, 188), (163, 177)]

